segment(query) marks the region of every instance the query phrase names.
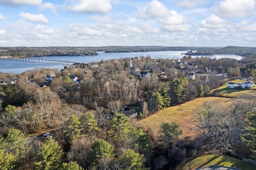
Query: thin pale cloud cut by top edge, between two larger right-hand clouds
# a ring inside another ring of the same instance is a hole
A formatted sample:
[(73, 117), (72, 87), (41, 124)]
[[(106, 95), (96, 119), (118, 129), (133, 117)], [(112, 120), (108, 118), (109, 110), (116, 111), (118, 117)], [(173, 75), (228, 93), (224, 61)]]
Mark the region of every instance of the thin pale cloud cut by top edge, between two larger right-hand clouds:
[(210, 4), (210, 0), (171, 0), (174, 1), (178, 6), (193, 8), (197, 6), (203, 6)]

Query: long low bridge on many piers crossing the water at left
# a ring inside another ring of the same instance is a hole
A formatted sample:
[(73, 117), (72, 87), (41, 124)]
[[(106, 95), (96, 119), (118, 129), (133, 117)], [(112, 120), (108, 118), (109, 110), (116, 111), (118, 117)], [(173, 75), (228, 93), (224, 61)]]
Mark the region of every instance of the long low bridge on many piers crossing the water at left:
[(63, 65), (73, 65), (75, 63), (70, 61), (61, 61), (61, 60), (53, 60), (53, 59), (31, 59), (31, 58), (1, 58), (6, 60), (13, 60), (13, 61), (30, 61), (30, 62), (39, 62), (39, 63), (63, 63)]

